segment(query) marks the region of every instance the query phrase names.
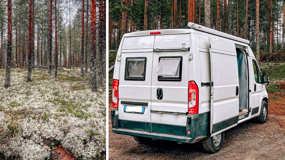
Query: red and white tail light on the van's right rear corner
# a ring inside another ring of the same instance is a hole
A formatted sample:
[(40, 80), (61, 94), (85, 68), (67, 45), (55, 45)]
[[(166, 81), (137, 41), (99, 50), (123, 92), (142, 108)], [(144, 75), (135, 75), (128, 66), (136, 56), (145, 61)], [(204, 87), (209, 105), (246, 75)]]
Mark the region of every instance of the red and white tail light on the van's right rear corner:
[(188, 114), (198, 114), (199, 89), (195, 81), (188, 82)]

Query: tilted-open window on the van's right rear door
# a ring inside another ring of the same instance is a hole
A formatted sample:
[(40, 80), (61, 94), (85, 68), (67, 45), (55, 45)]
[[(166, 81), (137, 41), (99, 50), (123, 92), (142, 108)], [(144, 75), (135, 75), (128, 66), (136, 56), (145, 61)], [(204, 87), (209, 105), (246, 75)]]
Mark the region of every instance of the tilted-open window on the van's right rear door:
[(182, 56), (159, 57), (154, 76), (158, 76), (158, 81), (181, 81)]

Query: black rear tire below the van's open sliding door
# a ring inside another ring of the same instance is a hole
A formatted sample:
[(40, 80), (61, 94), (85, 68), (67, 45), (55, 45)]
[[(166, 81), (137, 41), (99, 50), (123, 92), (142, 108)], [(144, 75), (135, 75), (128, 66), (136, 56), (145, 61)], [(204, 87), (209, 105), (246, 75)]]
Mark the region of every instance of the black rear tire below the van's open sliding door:
[(220, 140), (219, 140), (218, 145), (214, 144), (214, 139), (213, 139), (214, 136), (205, 138), (204, 140), (202, 140), (203, 149), (206, 152), (209, 152), (209, 153), (216, 153), (216, 152), (218, 152), (222, 148), (222, 146), (223, 146), (224, 137), (225, 137), (225, 133), (222, 132), (221, 135), (220, 135)]

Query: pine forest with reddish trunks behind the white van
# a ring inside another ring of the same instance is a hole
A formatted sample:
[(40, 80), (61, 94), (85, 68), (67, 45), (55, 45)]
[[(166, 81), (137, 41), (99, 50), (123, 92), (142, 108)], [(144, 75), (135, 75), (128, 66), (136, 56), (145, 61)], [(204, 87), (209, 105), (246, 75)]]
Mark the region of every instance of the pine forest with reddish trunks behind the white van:
[(260, 60), (284, 60), (280, 0), (110, 0), (109, 48), (117, 49), (128, 32), (187, 27), (188, 22), (249, 40)]

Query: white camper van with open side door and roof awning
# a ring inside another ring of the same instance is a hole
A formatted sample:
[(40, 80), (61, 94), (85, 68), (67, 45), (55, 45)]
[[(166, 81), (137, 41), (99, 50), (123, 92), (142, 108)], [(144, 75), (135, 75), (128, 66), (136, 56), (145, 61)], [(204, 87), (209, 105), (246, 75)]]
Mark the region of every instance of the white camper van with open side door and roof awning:
[(113, 132), (140, 143), (202, 142), (215, 153), (224, 131), (268, 115), (268, 73), (249, 41), (204, 26), (123, 36), (113, 77)]

